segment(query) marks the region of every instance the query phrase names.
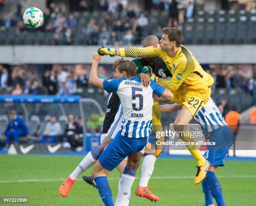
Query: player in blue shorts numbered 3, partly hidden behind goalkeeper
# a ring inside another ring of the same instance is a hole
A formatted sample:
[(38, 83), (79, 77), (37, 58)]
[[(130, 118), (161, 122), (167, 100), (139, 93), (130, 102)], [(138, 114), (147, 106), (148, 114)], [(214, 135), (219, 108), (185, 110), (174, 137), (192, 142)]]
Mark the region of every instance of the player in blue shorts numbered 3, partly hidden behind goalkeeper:
[[(161, 112), (174, 112), (181, 109), (181, 107), (181, 104), (165, 104), (160, 106)], [(225, 165), (224, 158), (231, 145), (233, 145), (234, 133), (211, 98), (195, 115), (194, 120), (200, 124), (205, 138), (209, 139), (209, 142), (215, 142), (215, 145), (207, 145), (207, 150), (205, 151), (205, 159), (211, 164), (206, 178), (202, 181), (202, 190), (205, 193), (205, 206), (214, 206), (213, 198), (215, 198), (218, 206), (225, 206), (222, 188), (215, 172), (218, 166)]]

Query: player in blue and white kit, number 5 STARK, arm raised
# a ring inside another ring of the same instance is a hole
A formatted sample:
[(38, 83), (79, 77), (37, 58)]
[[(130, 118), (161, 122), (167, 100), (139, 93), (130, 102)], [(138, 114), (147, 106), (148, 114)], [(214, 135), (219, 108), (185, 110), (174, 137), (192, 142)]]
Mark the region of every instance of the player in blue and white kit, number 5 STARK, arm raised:
[[(108, 147), (101, 153), (94, 169), (94, 177), (100, 197), (106, 206), (114, 206), (112, 192), (107, 176), (120, 162), (128, 156), (127, 165), (120, 178), (119, 186), (122, 186), (123, 198), (115, 201), (116, 206), (123, 205), (124, 199), (130, 195), (131, 186), (135, 179), (135, 173), (142, 156), (141, 150), (145, 149), (148, 137), (151, 135), (152, 124), (152, 95), (156, 94), (163, 100), (170, 101), (173, 94), (169, 89), (150, 81), (148, 87), (141, 85), (139, 77), (120, 78), (119, 80), (103, 80), (97, 76), (97, 67), (101, 56), (93, 54), (92, 68), (90, 72), (90, 84), (107, 92), (118, 94), (123, 107), (123, 122), (121, 130)], [(121, 64), (126, 69), (136, 67), (133, 62)], [(135, 74), (134, 74), (135, 76)], [(122, 182), (125, 182), (123, 184)]]

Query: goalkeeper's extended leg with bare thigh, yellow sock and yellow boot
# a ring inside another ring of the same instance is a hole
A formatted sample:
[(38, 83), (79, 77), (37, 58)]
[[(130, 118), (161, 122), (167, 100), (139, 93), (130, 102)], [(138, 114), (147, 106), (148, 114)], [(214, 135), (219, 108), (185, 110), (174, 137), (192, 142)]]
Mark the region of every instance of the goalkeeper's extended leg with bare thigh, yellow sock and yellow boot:
[(189, 135), (187, 135), (189, 134), (187, 125), (190, 120), (192, 120), (192, 114), (187, 109), (187, 107), (182, 107), (176, 119), (174, 120), (174, 130), (181, 132), (180, 138), (184, 142), (194, 142), (194, 145), (187, 145), (187, 149), (193, 158), (197, 161), (197, 174), (195, 177), (195, 184), (198, 184), (205, 178), (206, 173), (210, 168), (210, 163), (205, 160), (205, 158), (201, 155), (200, 150), (197, 148), (197, 146), (195, 146), (194, 138), (191, 138)]

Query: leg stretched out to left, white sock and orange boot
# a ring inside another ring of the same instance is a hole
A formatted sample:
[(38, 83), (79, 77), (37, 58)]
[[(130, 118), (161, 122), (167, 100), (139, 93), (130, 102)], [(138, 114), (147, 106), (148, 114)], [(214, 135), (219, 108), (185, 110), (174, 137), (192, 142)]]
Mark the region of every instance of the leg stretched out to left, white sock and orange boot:
[[(102, 135), (106, 136), (106, 134), (102, 134)], [(103, 142), (97, 148), (94, 148), (94, 150), (91, 150), (84, 157), (84, 159), (79, 163), (77, 168), (74, 169), (74, 171), (67, 177), (67, 179), (64, 181), (64, 183), (59, 187), (59, 193), (63, 197), (66, 197), (68, 195), (68, 193), (69, 193), (71, 187), (73, 186), (73, 184), (75, 183), (77, 177), (97, 162), (97, 159), (99, 158), (102, 151), (108, 146), (108, 144), (112, 140), (113, 139), (110, 137), (105, 137)], [(88, 177), (85, 181), (88, 184), (95, 187), (93, 178)]]

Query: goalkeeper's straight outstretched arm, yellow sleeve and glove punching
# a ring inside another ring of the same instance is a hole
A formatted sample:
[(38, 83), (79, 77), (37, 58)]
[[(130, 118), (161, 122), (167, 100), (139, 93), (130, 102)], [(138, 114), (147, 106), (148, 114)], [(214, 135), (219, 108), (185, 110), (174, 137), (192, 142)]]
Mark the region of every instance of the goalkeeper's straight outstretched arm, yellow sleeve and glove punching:
[(160, 56), (161, 48), (159, 45), (148, 46), (148, 47), (127, 47), (127, 48), (105, 48), (104, 46), (98, 47), (98, 54), (100, 56), (110, 55), (110, 56), (122, 56), (122, 57), (156, 57)]

